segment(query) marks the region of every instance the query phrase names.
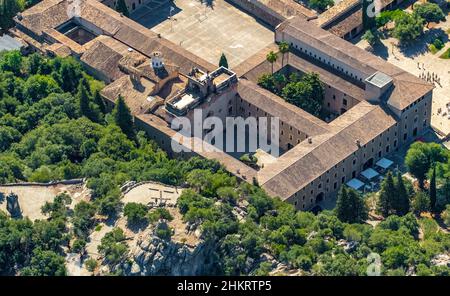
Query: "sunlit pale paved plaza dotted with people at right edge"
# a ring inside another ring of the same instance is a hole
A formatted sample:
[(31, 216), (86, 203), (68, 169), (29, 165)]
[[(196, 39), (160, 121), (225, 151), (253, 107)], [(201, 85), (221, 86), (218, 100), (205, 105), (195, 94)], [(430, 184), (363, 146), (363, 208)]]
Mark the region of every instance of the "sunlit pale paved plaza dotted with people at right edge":
[[(441, 59), (439, 56), (450, 47), (450, 42), (448, 36), (444, 38), (447, 40), (446, 45), (436, 54), (428, 50), (428, 44), (438, 35), (447, 35), (449, 29), (450, 17), (447, 17), (446, 22), (430, 26), (422, 38), (406, 49), (395, 46), (397, 40), (394, 38), (381, 40), (383, 45), (374, 48), (374, 54), (418, 77), (434, 73), (440, 78), (440, 84), (435, 83), (433, 91), (431, 125), (444, 135), (450, 134), (450, 109), (447, 107), (447, 104), (450, 106), (450, 59)], [(356, 45), (365, 47), (366, 44), (365, 41), (359, 41)]]

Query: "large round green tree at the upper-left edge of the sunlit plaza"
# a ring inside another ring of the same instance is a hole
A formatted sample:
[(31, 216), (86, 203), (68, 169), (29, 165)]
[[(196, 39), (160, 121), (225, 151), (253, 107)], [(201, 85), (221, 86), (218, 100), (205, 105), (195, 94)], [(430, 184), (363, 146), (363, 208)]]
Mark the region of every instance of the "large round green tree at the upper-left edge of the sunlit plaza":
[(423, 33), (423, 19), (416, 14), (406, 14), (395, 21), (392, 34), (402, 44), (409, 44)]

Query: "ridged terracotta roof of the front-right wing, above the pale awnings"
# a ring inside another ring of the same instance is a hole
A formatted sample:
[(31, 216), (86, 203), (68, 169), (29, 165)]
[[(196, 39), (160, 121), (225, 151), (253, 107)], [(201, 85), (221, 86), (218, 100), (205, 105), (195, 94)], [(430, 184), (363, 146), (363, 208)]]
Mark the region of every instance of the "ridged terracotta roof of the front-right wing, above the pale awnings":
[(356, 140), (364, 145), (396, 121), (380, 106), (361, 102), (341, 117), (356, 116), (351, 124), (333, 133), (313, 137), (312, 144), (303, 141), (286, 152), (277, 162), (267, 164), (258, 173), (258, 181), (268, 191), (287, 199), (336, 164), (358, 150)]

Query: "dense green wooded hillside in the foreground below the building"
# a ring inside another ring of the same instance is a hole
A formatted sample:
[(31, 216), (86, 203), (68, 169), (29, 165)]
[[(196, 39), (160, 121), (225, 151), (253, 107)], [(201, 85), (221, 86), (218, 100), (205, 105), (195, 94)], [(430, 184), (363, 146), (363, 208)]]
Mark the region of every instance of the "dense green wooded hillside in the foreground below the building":
[[(386, 181), (380, 193), (383, 198), (375, 197), (378, 211), (385, 216), (376, 226), (364, 222), (370, 211), (367, 198), (350, 189), (341, 190), (336, 211), (316, 216), (296, 212), (262, 189), (239, 183), (217, 163), (169, 159), (133, 127), (121, 99), (111, 113), (105, 110), (99, 96), (102, 86), (71, 58), (0, 54), (0, 182), (83, 177), (92, 190), (91, 200), (80, 202), (74, 210), (67, 206), (70, 198), (59, 195), (43, 207), (46, 220), (31, 222), (1, 213), (0, 274), (66, 274), (65, 254), (82, 252), (97, 216), (115, 219), (123, 212), (119, 187), (130, 180), (154, 180), (189, 187), (177, 208), (185, 222), (198, 225), (202, 240), (212, 246), (209, 261), (214, 264), (208, 274), (269, 274), (274, 266), (264, 258), (270, 256), (286, 270), (309, 275), (378, 271), (449, 275), (448, 266), (437, 266), (433, 260), (450, 250), (450, 236), (436, 222), (450, 223), (450, 197), (445, 189), (450, 165), (444, 150), (439, 149), (435, 157), (430, 152), (435, 149), (416, 147), (424, 154), (416, 157), (425, 166), (421, 170), (426, 170), (422, 189), (404, 184), (408, 208), (400, 211), (396, 203), (379, 201), (392, 200), (388, 188), (399, 188), (398, 180), (392, 186)], [(414, 171), (416, 162), (411, 161)], [(436, 185), (435, 203), (430, 199), (434, 196), (431, 184)], [(245, 205), (241, 220), (234, 213), (237, 204)], [(125, 215), (149, 221), (170, 219), (163, 211), (148, 212), (146, 207), (128, 206)], [(428, 218), (420, 216), (423, 212), (428, 212)], [(171, 232), (160, 231), (159, 236), (170, 240)], [(121, 267), (131, 260), (123, 240), (117, 228), (99, 247), (104, 261), (117, 266), (112, 268), (114, 274), (126, 274)]]

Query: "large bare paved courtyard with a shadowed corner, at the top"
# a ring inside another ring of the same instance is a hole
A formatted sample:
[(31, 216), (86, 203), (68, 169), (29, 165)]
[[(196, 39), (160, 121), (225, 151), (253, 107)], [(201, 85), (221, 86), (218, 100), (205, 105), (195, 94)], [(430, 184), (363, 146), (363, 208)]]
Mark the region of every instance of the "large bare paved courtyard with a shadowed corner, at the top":
[(131, 18), (206, 61), (233, 68), (273, 43), (274, 33), (224, 0), (152, 0)]

